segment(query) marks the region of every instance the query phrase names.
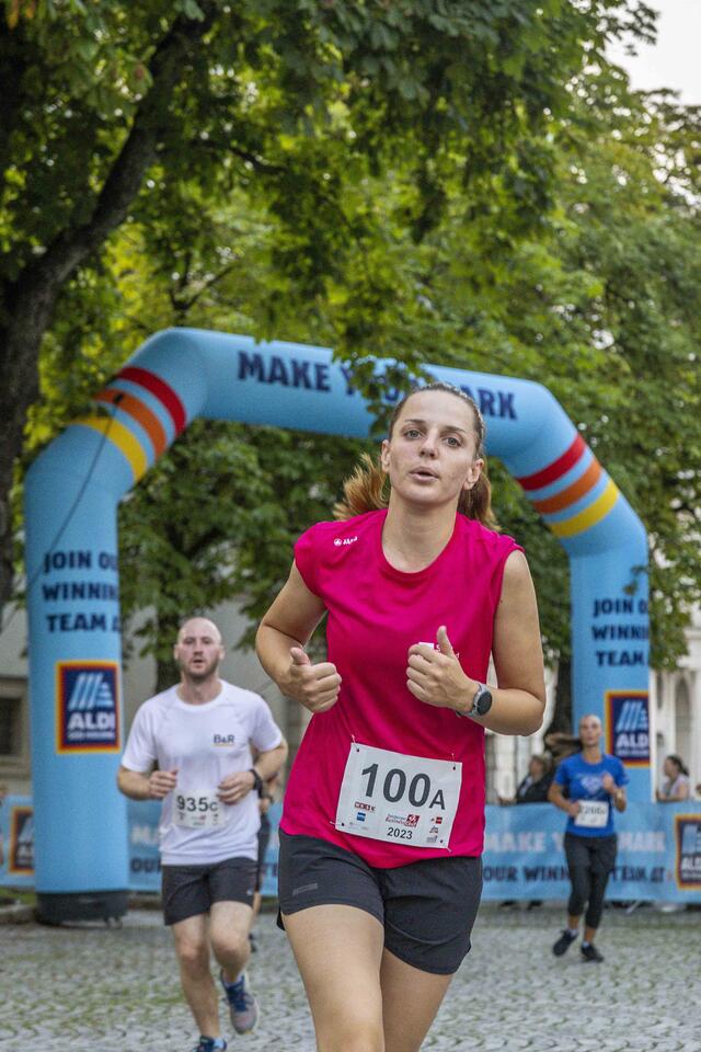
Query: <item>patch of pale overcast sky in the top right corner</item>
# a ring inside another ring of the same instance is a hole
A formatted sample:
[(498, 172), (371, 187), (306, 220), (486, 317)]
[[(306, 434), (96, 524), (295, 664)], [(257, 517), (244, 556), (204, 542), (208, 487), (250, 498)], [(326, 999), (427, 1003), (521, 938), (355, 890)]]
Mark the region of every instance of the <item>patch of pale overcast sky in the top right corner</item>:
[(630, 58), (611, 49), (611, 58), (628, 70), (633, 88), (674, 88), (688, 105), (701, 105), (701, 0), (647, 0), (659, 12), (657, 44), (637, 47)]

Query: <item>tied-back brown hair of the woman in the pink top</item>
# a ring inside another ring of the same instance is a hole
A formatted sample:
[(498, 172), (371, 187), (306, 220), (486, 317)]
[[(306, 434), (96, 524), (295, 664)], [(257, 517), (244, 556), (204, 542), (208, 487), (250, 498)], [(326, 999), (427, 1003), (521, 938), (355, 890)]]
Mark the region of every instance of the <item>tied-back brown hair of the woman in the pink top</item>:
[[(497, 529), (496, 518), (492, 511), (492, 487), (486, 474), (486, 460), (484, 457), (484, 420), (476, 403), (469, 395), (466, 395), (459, 387), (452, 384), (436, 381), (427, 384), (425, 387), (416, 387), (406, 395), (401, 402), (394, 407), (390, 419), (389, 437), (392, 437), (394, 424), (412, 397), (418, 391), (445, 391), (447, 395), (455, 395), (463, 402), (467, 402), (474, 418), (475, 435), (475, 457), (484, 460), (484, 466), (480, 472), (478, 481), (471, 490), (462, 490), (458, 501), (458, 511), (467, 518), (476, 519), (489, 529)], [(360, 456), (360, 462), (356, 465), (353, 474), (343, 483), (343, 500), (334, 505), (334, 518), (353, 518), (354, 515), (363, 515), (365, 512), (377, 512), (387, 507), (390, 500), (390, 484), (387, 472), (382, 470), (379, 458), (374, 459), (369, 454), (364, 453)]]

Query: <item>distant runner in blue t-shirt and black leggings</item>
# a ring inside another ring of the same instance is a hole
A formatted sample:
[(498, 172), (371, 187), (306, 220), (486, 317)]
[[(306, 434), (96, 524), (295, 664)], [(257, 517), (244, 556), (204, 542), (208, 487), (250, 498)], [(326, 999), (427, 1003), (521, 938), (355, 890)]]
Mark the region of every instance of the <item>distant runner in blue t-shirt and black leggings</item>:
[(617, 837), (613, 832), (613, 808), (625, 810), (628, 775), (620, 759), (601, 752), (601, 721), (598, 716), (584, 716), (579, 721), (582, 752), (564, 759), (550, 787), (548, 799), (570, 816), (565, 831), (565, 856), (572, 882), (567, 903), (567, 927), (552, 948), (562, 957), (579, 934), (584, 918), (582, 957), (585, 961), (604, 960), (594, 945), (601, 923), (604, 895), (616, 865)]

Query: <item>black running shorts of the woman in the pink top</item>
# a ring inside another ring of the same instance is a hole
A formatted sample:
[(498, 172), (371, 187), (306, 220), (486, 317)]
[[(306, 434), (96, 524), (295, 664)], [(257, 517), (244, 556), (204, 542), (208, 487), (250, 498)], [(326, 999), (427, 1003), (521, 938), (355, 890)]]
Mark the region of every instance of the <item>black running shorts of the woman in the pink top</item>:
[[(379, 869), (313, 836), (279, 831), (281, 914), (340, 904), (365, 910), (384, 927), (386, 948), (406, 964), (452, 975), (470, 950), (482, 894), (482, 859), (427, 858)], [(281, 924), (280, 924), (281, 927)]]

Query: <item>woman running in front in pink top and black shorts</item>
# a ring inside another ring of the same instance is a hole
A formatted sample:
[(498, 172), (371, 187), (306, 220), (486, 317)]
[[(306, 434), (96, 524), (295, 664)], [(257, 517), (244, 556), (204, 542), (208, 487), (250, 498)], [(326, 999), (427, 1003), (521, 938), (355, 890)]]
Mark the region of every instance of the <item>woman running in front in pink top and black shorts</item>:
[[(344, 521), (298, 540), (258, 630), (265, 670), (313, 713), (279, 902), (321, 1052), (421, 1047), (480, 901), (484, 729), (542, 721), (536, 596), (522, 550), (490, 528), (483, 439), (460, 389), (409, 395), (379, 468), (366, 458), (346, 483)], [(327, 661), (312, 664), (324, 614)]]

